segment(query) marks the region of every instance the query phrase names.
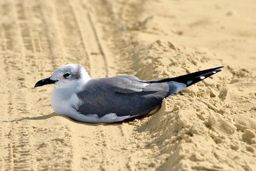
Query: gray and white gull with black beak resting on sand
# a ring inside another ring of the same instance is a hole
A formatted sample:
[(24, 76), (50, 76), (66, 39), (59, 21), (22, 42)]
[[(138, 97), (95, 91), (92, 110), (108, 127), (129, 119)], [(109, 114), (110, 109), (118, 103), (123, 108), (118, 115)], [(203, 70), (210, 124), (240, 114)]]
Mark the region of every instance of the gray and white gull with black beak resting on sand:
[(66, 64), (35, 87), (55, 86), (51, 105), (59, 115), (86, 123), (113, 123), (152, 111), (172, 93), (216, 74), (219, 68), (143, 81), (131, 75), (91, 79), (80, 64)]

